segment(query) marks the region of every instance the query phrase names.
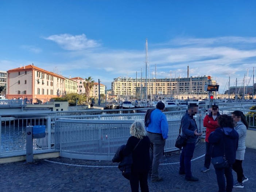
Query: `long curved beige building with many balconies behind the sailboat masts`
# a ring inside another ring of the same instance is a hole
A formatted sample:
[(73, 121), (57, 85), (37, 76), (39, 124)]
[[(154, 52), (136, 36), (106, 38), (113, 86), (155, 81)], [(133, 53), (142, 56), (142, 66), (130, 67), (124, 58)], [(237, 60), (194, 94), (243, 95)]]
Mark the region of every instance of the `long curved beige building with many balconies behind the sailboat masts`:
[(207, 76), (198, 77), (178, 77), (159, 79), (136, 79), (128, 77), (118, 77), (112, 82), (112, 94), (117, 98), (146, 99), (146, 87), (148, 99), (178, 98), (178, 99), (203, 99), (208, 92), (204, 91), (204, 86), (216, 85), (216, 81), (207, 80)]

